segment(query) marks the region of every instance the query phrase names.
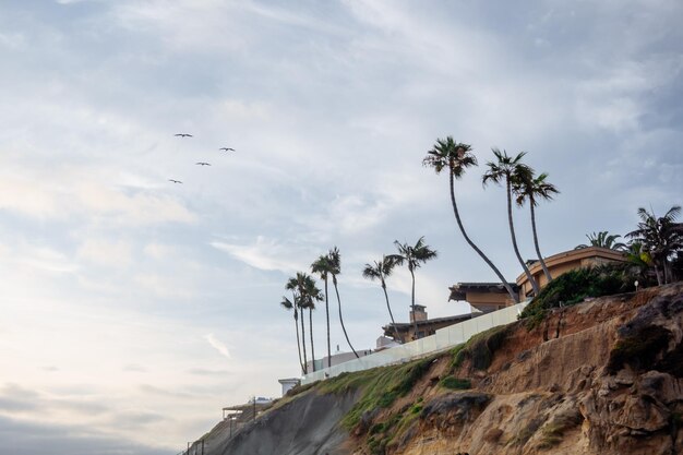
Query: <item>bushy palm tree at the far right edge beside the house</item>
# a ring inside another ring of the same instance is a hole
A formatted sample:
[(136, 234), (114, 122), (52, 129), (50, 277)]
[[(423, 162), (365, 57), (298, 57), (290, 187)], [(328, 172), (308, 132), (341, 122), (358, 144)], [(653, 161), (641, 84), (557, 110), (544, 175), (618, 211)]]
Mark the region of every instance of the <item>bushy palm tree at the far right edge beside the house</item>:
[(659, 285), (670, 282), (669, 261), (683, 250), (683, 224), (675, 223), (680, 214), (681, 207), (678, 205), (659, 218), (654, 211), (649, 213), (640, 207), (638, 228), (626, 234), (626, 237), (642, 243), (643, 250), (651, 258)]

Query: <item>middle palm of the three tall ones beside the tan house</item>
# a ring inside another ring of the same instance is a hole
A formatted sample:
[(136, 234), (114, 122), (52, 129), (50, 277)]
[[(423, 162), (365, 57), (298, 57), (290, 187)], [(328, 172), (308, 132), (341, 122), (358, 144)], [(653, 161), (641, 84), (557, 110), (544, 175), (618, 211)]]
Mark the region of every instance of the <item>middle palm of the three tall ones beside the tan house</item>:
[(483, 185), (486, 187), (489, 181), (494, 183), (501, 183), (504, 181), (505, 183), (505, 192), (507, 194), (507, 221), (510, 224), (510, 235), (513, 241), (513, 249), (515, 250), (515, 255), (519, 261), (519, 265), (524, 270), (524, 273), (527, 276), (527, 279), (531, 284), (534, 288), (534, 294), (538, 296), (539, 287), (536, 279), (529, 272), (529, 267), (527, 267), (526, 262), (522, 259), (522, 254), (519, 254), (519, 248), (517, 247), (517, 238), (515, 237), (515, 225), (513, 223), (512, 216), (512, 184), (515, 181), (520, 181), (529, 178), (530, 168), (522, 163), (522, 158), (526, 155), (526, 152), (520, 152), (517, 156), (508, 156), (507, 152), (499, 151), (498, 148), (493, 148), (493, 155), (495, 155), (496, 161), (488, 161), (487, 166), (489, 170), (487, 170), (481, 179)]

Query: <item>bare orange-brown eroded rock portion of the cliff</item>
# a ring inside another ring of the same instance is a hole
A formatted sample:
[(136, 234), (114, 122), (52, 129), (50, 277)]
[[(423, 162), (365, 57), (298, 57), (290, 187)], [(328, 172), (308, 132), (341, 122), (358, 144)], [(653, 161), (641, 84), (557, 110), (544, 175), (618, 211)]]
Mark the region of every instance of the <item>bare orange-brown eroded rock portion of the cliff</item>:
[(472, 391), (422, 384), (410, 438), (385, 453), (683, 454), (682, 328), (681, 284), (561, 309), (531, 331), (519, 322), (486, 371), (456, 369)]

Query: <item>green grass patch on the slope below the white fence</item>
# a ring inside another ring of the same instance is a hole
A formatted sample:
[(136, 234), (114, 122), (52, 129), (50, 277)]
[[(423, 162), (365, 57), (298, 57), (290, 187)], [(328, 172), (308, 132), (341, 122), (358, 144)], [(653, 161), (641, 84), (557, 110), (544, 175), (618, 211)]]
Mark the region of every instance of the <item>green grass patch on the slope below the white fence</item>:
[(388, 408), (397, 398), (407, 395), (438, 357), (431, 356), (399, 366), (339, 374), (321, 383), (319, 391), (321, 393), (362, 391), (360, 399), (342, 420), (344, 427), (350, 430), (361, 421), (363, 415)]

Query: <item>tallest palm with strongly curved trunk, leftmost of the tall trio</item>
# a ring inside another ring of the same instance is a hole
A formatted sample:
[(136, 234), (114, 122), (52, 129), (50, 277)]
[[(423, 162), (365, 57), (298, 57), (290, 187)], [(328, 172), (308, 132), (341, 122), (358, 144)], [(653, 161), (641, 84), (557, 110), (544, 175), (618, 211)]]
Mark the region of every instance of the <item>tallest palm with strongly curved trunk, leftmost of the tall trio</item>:
[(493, 273), (499, 277), (501, 284), (510, 294), (510, 297), (518, 302), (519, 298), (513, 290), (512, 286), (507, 283), (503, 274), (498, 270), (495, 265), (489, 260), (489, 258), (472, 242), (465, 231), (463, 221), (460, 220), (460, 214), (458, 212), (457, 203), (455, 202), (455, 179), (460, 179), (465, 173), (465, 169), (470, 166), (477, 166), (477, 158), (471, 153), (471, 146), (469, 144), (456, 143), (452, 136), (447, 136), (445, 140), (438, 139), (434, 147), (428, 152), (427, 157), (422, 159), (422, 165), (434, 168), (436, 173), (441, 173), (442, 170), (448, 169), (448, 182), (451, 184), (451, 204), (453, 205), (453, 213), (455, 214), (455, 220), (457, 221), (463, 237), (472, 250), (479, 254), (479, 256), (491, 267)]

